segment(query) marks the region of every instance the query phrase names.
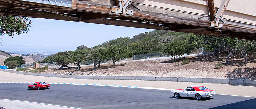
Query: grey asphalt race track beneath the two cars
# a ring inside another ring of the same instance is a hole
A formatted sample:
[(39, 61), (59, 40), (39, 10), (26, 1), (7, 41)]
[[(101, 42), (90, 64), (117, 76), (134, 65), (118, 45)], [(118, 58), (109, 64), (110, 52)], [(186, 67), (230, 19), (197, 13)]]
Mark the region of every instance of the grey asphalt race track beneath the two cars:
[[(28, 84), (0, 84), (0, 98), (76, 108), (255, 108), (256, 98), (215, 95), (211, 99), (175, 99), (170, 91), (107, 86), (51, 84), (28, 90)], [(216, 91), (216, 93), (218, 93)], [(1, 105), (1, 103), (0, 103)]]

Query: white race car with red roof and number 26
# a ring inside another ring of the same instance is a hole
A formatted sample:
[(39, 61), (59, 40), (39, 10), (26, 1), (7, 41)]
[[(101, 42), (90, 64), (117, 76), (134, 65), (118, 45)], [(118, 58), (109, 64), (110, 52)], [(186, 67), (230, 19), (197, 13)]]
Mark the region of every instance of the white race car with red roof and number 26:
[(173, 90), (171, 93), (175, 98), (190, 97), (201, 100), (202, 98), (211, 98), (216, 94), (216, 91), (207, 89), (204, 86), (189, 86), (186, 89)]

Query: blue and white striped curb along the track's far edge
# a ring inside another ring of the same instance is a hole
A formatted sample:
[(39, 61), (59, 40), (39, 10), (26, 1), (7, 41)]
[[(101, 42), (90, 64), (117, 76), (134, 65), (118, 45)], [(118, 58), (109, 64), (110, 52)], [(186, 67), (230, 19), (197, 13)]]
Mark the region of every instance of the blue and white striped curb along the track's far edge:
[[(33, 84), (31, 82), (0, 82), (0, 84)], [(138, 89), (156, 89), (156, 90), (169, 90), (174, 89), (164, 89), (155, 87), (137, 87), (137, 86), (119, 86), (119, 85), (105, 85), (105, 84), (79, 84), (79, 83), (47, 83), (47, 84), (68, 84), (68, 85), (87, 85), (87, 86), (109, 86), (109, 87), (126, 87), (126, 88), (138, 88)]]

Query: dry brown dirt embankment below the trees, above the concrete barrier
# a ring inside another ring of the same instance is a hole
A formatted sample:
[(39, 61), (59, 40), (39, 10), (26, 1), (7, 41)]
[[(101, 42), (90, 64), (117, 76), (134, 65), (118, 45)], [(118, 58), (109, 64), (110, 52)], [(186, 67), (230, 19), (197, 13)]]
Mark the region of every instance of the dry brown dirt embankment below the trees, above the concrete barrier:
[[(164, 77), (192, 77), (192, 78), (240, 78), (256, 79), (256, 60), (244, 64), (244, 59), (240, 54), (232, 55), (228, 63), (223, 63), (223, 67), (215, 69), (217, 61), (224, 62), (228, 54), (220, 54), (213, 57), (212, 54), (187, 57), (189, 64), (175, 65), (170, 59), (136, 61), (113, 64), (101, 64), (96, 70), (93, 66), (81, 67), (80, 71), (76, 68), (57, 70), (50, 68), (41, 73), (53, 73), (62, 75), (93, 75), (93, 76), (164, 76)], [(249, 56), (251, 60), (252, 56)]]

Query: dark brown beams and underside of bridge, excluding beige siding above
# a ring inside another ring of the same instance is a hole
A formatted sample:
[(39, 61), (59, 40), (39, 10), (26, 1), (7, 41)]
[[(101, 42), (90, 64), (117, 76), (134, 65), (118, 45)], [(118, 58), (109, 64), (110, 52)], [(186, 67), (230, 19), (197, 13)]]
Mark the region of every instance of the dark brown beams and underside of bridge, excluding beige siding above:
[[(107, 3), (95, 1), (97, 0), (72, 0), (72, 7), (62, 7), (26, 0), (1, 0), (0, 14), (256, 40), (256, 26), (249, 23), (221, 19), (222, 27), (213, 26), (211, 23), (214, 21), (210, 20), (210, 16), (137, 3), (132, 3), (127, 8), (132, 10), (132, 15), (121, 14), (110, 11), (111, 8), (119, 8), (115, 0), (101, 0)], [(158, 13), (161, 10), (168, 13)]]

